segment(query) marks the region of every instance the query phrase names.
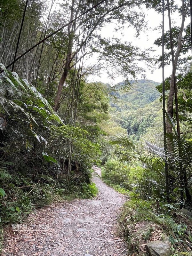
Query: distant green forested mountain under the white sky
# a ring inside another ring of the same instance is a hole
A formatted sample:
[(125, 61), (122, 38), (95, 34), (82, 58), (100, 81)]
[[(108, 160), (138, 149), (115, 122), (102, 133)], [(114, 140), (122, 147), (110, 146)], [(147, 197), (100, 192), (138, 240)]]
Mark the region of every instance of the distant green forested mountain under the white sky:
[(113, 93), (116, 98), (111, 98), (110, 116), (134, 139), (138, 140), (148, 127), (153, 126), (154, 118), (162, 109), (157, 85), (159, 83), (142, 79), (132, 81), (128, 92), (119, 90)]

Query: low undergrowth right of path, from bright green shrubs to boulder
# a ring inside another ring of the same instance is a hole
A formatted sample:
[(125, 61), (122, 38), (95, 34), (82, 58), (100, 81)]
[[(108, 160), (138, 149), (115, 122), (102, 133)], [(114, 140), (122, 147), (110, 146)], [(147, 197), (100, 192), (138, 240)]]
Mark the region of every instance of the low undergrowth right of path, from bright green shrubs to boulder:
[(103, 181), (128, 196), (119, 216), (119, 232), (125, 237), (130, 255), (145, 255), (145, 244), (151, 240), (169, 242), (172, 255), (188, 255), (192, 248), (192, 218), (186, 215), (187, 209), (185, 214), (180, 211), (180, 203), (168, 203), (164, 193), (158, 195), (161, 189), (157, 182), (151, 182), (151, 175), (153, 179), (156, 176), (140, 163), (122, 163), (115, 157), (103, 165)]

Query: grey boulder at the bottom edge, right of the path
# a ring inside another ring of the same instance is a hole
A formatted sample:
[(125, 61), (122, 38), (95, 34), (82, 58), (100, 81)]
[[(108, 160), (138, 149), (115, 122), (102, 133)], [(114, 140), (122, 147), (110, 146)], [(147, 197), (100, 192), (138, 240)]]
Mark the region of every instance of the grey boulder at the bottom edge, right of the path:
[(170, 245), (163, 241), (152, 241), (146, 244), (147, 252), (150, 256), (169, 256)]

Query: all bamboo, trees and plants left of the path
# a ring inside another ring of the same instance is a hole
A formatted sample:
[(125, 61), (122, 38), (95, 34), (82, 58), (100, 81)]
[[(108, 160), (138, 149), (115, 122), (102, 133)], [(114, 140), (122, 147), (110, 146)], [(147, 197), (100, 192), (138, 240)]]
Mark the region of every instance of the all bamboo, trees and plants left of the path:
[(92, 165), (108, 146), (115, 89), (88, 76), (106, 70), (135, 79), (139, 62), (152, 60), (131, 42), (100, 35), (114, 20), (139, 33), (145, 15), (133, 8), (141, 3), (1, 1), (0, 229), (35, 207), (96, 196)]

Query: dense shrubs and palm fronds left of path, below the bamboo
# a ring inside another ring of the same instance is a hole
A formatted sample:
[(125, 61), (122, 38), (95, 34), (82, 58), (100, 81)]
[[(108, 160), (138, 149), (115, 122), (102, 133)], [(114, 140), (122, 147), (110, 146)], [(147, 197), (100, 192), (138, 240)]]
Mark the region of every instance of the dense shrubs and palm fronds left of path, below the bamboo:
[(99, 142), (105, 132), (99, 123), (106, 119), (107, 98), (103, 91), (99, 94), (92, 90), (97, 99), (89, 100), (83, 96), (85, 88), (81, 84), (74, 124), (70, 115), (64, 117), (67, 113), (53, 110), (52, 101), (49, 103), (39, 92), (41, 88), (28, 84), (4, 65), (0, 67), (2, 230), (25, 221), (35, 207), (97, 194), (91, 181), (92, 165), (100, 161)]

